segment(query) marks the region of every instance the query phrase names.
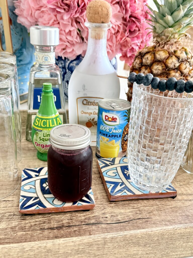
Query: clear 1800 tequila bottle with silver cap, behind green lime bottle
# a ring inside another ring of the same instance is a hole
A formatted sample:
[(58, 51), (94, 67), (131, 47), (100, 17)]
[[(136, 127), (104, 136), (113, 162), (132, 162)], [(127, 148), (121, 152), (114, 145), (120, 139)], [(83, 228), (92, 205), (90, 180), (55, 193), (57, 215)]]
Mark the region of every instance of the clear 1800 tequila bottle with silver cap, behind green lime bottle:
[(59, 44), (59, 29), (55, 27), (32, 26), (30, 43), (35, 47), (36, 63), (31, 67), (28, 95), (28, 117), (26, 140), (32, 141), (31, 131), (41, 103), (43, 83), (51, 83), (54, 101), (63, 123), (67, 122), (62, 76), (55, 64), (55, 47)]

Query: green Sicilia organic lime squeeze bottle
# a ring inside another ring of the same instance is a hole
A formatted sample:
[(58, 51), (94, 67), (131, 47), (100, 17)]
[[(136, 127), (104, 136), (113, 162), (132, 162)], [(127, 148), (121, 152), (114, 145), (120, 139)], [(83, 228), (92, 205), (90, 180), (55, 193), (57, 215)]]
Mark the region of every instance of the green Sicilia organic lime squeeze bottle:
[(51, 83), (43, 83), (41, 104), (33, 121), (31, 132), (33, 145), (37, 149), (37, 157), (43, 161), (47, 161), (51, 129), (56, 125), (62, 124), (54, 103), (54, 94), (52, 91)]

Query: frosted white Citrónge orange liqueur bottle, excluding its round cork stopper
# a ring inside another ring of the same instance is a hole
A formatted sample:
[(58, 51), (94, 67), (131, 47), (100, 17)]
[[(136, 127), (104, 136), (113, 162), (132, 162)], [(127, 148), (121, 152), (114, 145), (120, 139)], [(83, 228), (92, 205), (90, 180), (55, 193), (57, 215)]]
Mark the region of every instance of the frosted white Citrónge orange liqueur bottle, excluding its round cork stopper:
[(69, 123), (91, 130), (92, 146), (96, 145), (98, 102), (119, 98), (120, 83), (107, 55), (107, 30), (111, 23), (85, 22), (89, 28), (85, 57), (74, 70), (68, 85)]

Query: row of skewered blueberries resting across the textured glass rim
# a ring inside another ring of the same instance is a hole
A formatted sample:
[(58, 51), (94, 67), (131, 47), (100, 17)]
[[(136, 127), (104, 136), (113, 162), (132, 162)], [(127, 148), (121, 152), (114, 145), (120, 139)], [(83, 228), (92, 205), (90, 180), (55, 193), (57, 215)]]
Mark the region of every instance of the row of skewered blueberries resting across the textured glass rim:
[(177, 93), (192, 93), (193, 92), (193, 81), (188, 80), (185, 82), (182, 79), (177, 80), (174, 77), (168, 78), (167, 80), (154, 77), (152, 74), (136, 74), (135, 72), (131, 72), (128, 81), (130, 83), (143, 84), (144, 86), (149, 86), (156, 90), (158, 89), (161, 92), (166, 90), (173, 91), (175, 90)]

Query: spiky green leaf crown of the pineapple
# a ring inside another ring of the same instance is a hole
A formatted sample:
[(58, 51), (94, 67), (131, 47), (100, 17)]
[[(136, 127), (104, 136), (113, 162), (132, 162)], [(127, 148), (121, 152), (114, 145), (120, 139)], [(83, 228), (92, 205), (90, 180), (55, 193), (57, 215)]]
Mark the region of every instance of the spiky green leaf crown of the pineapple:
[(162, 0), (159, 4), (157, 0), (153, 0), (158, 11), (154, 11), (151, 7), (148, 9), (152, 12), (148, 13), (152, 20), (148, 20), (151, 32), (154, 38), (165, 38), (166, 41), (173, 39), (178, 41), (181, 37), (185, 37), (185, 33), (193, 25), (193, 0)]

